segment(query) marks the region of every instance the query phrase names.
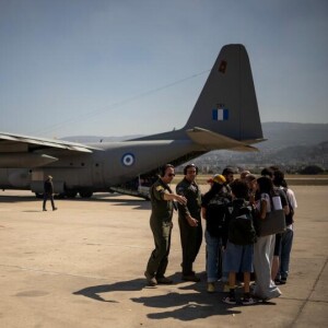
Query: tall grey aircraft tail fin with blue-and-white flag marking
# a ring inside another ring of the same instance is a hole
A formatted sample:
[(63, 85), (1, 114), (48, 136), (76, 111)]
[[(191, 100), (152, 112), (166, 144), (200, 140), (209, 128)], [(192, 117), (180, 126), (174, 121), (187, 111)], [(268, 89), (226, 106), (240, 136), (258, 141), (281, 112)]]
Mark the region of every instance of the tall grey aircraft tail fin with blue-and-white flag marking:
[(247, 51), (224, 46), (184, 127), (201, 127), (235, 140), (262, 139)]

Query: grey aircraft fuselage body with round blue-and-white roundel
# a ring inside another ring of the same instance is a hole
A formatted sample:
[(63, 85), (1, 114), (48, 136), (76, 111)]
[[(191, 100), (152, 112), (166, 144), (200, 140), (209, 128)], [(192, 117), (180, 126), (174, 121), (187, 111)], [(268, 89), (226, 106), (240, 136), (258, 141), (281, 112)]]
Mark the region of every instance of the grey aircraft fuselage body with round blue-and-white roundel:
[[(127, 141), (101, 143), (93, 153), (68, 153), (51, 149), (59, 159), (42, 167), (0, 168), (1, 189), (31, 189), (43, 192), (46, 176), (54, 176), (55, 192), (67, 190), (108, 191), (200, 148), (190, 140)], [(7, 157), (10, 160), (10, 157)]]

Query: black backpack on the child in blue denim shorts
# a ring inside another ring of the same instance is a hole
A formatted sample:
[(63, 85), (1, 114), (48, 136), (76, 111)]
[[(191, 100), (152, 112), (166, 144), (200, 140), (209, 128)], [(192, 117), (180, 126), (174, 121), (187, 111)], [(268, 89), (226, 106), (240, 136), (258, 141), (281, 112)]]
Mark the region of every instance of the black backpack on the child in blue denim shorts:
[(254, 210), (249, 202), (233, 201), (227, 238), (235, 245), (253, 245), (256, 243)]

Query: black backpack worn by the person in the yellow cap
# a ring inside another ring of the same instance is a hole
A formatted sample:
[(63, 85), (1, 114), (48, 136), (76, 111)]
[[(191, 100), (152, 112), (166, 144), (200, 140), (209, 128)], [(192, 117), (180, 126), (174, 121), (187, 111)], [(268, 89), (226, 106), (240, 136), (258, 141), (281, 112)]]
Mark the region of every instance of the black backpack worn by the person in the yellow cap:
[(215, 195), (207, 204), (207, 231), (212, 237), (223, 237), (227, 231), (230, 199)]

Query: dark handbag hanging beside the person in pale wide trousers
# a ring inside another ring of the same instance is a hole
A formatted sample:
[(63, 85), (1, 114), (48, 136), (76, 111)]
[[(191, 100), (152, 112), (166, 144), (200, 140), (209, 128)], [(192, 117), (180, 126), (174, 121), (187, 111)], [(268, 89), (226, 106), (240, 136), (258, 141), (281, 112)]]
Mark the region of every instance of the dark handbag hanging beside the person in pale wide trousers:
[[(271, 209), (273, 209), (272, 199)], [(282, 209), (273, 209), (271, 212), (267, 213), (265, 219), (261, 219), (258, 215), (256, 222), (256, 231), (259, 237), (276, 235), (285, 231), (285, 216), (284, 211)]]

